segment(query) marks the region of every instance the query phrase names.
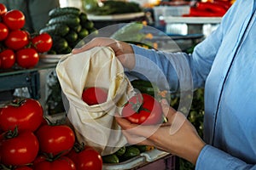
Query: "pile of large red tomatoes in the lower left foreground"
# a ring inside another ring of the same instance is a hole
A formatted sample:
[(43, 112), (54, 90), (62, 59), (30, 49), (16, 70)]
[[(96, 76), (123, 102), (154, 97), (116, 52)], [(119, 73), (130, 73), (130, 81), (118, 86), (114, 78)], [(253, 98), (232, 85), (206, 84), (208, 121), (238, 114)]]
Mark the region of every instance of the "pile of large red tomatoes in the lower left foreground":
[(0, 169), (102, 169), (99, 152), (79, 144), (65, 121), (45, 119), (36, 99), (15, 99), (0, 108), (0, 131)]

